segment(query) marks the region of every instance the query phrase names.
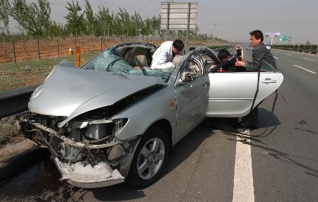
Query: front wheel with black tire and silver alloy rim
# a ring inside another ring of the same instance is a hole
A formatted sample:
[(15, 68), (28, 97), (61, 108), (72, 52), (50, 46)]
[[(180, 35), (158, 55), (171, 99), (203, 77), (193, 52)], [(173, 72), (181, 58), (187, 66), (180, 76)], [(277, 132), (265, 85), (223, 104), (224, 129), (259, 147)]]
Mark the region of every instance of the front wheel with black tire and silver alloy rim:
[(151, 127), (141, 138), (131, 162), (128, 181), (136, 187), (153, 184), (163, 171), (169, 153), (169, 140), (165, 131)]

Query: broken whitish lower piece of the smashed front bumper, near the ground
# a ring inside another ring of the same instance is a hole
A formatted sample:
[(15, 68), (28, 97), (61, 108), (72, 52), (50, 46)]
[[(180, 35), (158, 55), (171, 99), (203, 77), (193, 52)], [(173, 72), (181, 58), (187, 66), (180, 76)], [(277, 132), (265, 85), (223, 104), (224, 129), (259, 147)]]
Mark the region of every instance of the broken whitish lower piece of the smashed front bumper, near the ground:
[(100, 162), (92, 167), (84, 165), (83, 162), (76, 162), (73, 165), (68, 165), (61, 162), (59, 158), (54, 158), (55, 165), (61, 173), (61, 180), (66, 180), (73, 186), (83, 188), (97, 188), (102, 186), (110, 186), (124, 182), (124, 177), (120, 172), (106, 162)]

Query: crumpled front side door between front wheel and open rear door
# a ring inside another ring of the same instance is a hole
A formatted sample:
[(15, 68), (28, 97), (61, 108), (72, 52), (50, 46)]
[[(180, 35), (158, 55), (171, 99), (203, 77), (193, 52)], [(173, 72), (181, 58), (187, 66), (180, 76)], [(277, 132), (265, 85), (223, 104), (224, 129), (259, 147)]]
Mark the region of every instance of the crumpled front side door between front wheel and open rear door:
[(175, 84), (177, 139), (206, 117), (209, 85), (201, 57), (193, 55), (179, 71)]

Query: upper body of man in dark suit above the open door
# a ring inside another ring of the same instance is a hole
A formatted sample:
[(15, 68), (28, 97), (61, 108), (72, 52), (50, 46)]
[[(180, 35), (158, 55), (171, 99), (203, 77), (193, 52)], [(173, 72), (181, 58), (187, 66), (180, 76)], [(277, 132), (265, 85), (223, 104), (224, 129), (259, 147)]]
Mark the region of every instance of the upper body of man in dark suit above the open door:
[(264, 61), (267, 61), (273, 68), (277, 69), (273, 55), (263, 43), (263, 33), (260, 30), (254, 30), (249, 32), (249, 35), (251, 35), (249, 37), (251, 45), (254, 47), (252, 53), (253, 60), (252, 62), (237, 60), (235, 66), (244, 66), (246, 71), (259, 71), (261, 68), (261, 59), (264, 59)]

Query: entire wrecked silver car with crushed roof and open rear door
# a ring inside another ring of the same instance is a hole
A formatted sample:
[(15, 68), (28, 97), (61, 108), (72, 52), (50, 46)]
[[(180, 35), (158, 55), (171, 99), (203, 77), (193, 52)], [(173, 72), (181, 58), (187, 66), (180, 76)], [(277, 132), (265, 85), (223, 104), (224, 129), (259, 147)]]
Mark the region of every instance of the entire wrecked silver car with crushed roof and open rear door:
[[(172, 145), (205, 117), (248, 114), (257, 73), (208, 73), (219, 61), (206, 47), (174, 60), (174, 69), (150, 69), (154, 51), (153, 44), (124, 43), (80, 69), (63, 62), (33, 92), (21, 131), (49, 148), (61, 179), (86, 188), (124, 180), (148, 186)], [(262, 66), (260, 81), (276, 82), (260, 83), (255, 106), (283, 81)]]

